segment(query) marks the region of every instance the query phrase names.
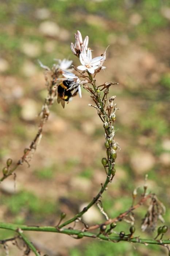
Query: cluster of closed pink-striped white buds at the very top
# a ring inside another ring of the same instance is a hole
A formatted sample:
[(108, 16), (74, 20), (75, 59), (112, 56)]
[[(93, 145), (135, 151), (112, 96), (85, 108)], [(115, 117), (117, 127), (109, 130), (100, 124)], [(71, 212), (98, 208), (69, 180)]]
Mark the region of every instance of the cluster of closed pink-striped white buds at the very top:
[(73, 43), (71, 43), (70, 48), (71, 48), (73, 54), (79, 57), (79, 55), (81, 53), (82, 45), (84, 45), (85, 50), (87, 50), (88, 43), (89, 43), (89, 37), (87, 35), (83, 41), (82, 35), (81, 35), (80, 31), (78, 31), (78, 30), (77, 30), (77, 34), (74, 34), (74, 37), (76, 39), (75, 45)]

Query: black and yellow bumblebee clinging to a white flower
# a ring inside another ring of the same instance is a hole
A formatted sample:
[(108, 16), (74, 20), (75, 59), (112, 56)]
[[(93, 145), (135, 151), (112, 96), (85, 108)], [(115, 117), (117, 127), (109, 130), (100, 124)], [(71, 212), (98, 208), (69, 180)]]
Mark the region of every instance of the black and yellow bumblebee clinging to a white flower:
[[(65, 101), (69, 103), (70, 98), (74, 97), (78, 93), (77, 87), (72, 87), (73, 81), (64, 80), (58, 85), (58, 95), (57, 102), (60, 103), (62, 107), (65, 107)], [(71, 88), (72, 87), (72, 88)]]

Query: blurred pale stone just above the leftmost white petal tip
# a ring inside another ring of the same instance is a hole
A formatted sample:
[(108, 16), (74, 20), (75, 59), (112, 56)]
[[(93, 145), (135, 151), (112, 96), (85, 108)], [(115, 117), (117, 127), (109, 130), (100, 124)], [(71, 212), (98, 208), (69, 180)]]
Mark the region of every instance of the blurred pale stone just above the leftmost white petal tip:
[(41, 52), (40, 45), (38, 43), (25, 42), (21, 48), (23, 53), (25, 53), (28, 57), (37, 57)]

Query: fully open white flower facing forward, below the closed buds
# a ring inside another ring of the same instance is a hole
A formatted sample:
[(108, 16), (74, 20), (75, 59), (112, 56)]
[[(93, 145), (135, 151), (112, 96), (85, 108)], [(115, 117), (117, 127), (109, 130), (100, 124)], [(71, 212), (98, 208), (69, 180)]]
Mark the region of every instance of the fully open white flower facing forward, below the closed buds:
[(106, 59), (106, 50), (102, 56), (92, 59), (92, 50), (88, 48), (86, 52), (85, 47), (82, 45), (80, 53), (80, 62), (82, 65), (77, 68), (80, 70), (88, 70), (91, 74), (94, 74), (95, 70), (98, 68), (105, 68), (102, 67), (102, 65)]

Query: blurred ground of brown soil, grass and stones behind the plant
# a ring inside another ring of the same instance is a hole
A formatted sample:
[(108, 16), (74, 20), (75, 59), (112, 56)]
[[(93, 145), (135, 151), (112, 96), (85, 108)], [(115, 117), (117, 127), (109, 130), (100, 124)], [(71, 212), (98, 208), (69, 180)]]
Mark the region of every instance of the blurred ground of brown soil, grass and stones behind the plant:
[[(70, 51), (74, 33), (89, 35), (93, 56), (107, 50), (107, 69), (97, 84), (118, 82), (115, 140), (116, 176), (103, 196), (110, 218), (131, 206), (131, 193), (144, 183), (165, 204), (170, 223), (170, 1), (168, 0), (0, 0), (0, 159), (14, 162), (37, 132), (38, 113), (47, 95), (43, 69), (54, 59), (79, 60)], [(103, 124), (89, 94), (73, 98), (65, 109), (57, 101), (51, 108), (42, 141), (32, 159), (0, 185), (2, 221), (28, 225), (56, 225), (61, 211), (76, 214), (98, 192), (105, 180)], [(142, 188), (138, 189), (139, 196)], [(45, 206), (45, 207), (44, 207)], [(136, 235), (153, 238), (156, 231), (140, 231), (147, 206), (135, 211)], [(85, 219), (101, 223), (94, 208)], [(159, 222), (159, 226), (161, 222)], [(128, 223), (116, 231), (129, 233)], [(13, 234), (0, 230), (0, 239)], [(58, 234), (29, 232), (28, 236), (49, 256), (165, 255), (159, 246), (75, 240)], [(168, 234), (165, 237), (169, 237)], [(11, 255), (22, 255), (14, 246)], [(5, 255), (3, 249), (1, 255)], [(13, 254), (12, 254), (13, 253)], [(20, 253), (20, 254), (19, 254)]]

